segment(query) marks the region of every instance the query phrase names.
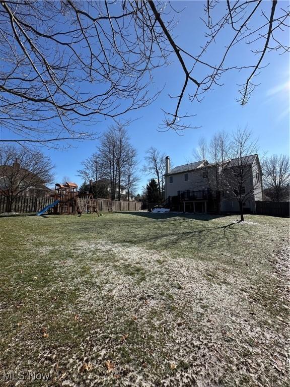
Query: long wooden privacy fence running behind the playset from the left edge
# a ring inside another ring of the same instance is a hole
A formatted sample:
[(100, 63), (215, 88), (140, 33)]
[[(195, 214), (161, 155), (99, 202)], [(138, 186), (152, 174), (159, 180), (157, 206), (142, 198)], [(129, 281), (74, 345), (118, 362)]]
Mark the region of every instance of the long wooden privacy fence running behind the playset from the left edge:
[[(78, 199), (80, 207), (86, 204), (87, 199)], [(14, 200), (12, 205), (12, 212), (38, 212), (49, 204), (53, 203), (53, 198), (37, 198), (31, 197), (18, 197)], [(141, 209), (141, 202), (117, 202), (107, 199), (94, 200), (97, 204), (99, 212), (107, 211), (139, 211)], [(86, 208), (85, 208), (86, 211)], [(7, 212), (7, 198), (0, 196), (0, 214)]]

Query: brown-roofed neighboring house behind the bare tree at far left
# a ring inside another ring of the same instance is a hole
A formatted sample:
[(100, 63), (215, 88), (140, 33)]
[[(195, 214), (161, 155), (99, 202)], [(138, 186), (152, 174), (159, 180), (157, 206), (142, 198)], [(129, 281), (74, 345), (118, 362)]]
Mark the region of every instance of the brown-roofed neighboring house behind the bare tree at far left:
[(13, 190), (17, 196), (47, 198), (51, 189), (43, 182), (37, 175), (27, 169), (20, 168), (17, 162), (13, 165), (0, 165), (0, 195), (5, 195), (13, 185)]

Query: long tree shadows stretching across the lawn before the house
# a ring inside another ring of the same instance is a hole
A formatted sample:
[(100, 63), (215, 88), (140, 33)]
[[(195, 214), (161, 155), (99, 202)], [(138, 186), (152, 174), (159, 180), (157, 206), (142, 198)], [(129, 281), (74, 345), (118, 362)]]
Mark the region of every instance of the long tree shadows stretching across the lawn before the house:
[[(128, 222), (125, 221), (125, 218), (114, 218), (114, 215), (102, 219), (99, 224), (100, 230), (112, 230), (114, 241), (119, 243), (131, 243), (161, 249), (170, 249), (172, 246), (178, 246), (179, 244), (184, 247), (185, 242), (198, 249), (203, 246), (210, 247), (210, 245), (230, 246), (230, 244), (235, 244), (243, 239), (245, 233), (247, 233), (247, 236), (249, 235), (248, 230), (246, 228), (241, 229), (241, 226), (237, 225), (236, 222), (231, 221), (224, 225), (216, 225), (216, 222), (210, 224), (209, 221), (214, 219), (226, 220), (227, 216), (223, 215), (138, 212), (126, 212), (126, 214), (129, 215), (127, 219), (130, 218)], [(207, 223), (203, 223), (203, 221)], [(86, 227), (88, 226), (87, 224)], [(122, 228), (118, 232), (118, 228), (121, 226), (124, 226), (124, 229)], [(83, 229), (84, 225), (76, 223), (73, 227)], [(90, 223), (90, 228), (95, 229), (95, 222)]]

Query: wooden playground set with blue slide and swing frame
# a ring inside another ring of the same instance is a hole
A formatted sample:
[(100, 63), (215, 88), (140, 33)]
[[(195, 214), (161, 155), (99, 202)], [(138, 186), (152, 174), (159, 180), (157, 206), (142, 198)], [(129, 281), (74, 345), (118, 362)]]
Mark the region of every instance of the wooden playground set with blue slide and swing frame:
[[(91, 188), (91, 182), (90, 182)], [(36, 215), (43, 215), (47, 211), (53, 214), (66, 214), (80, 216), (85, 211), (87, 213), (96, 212), (99, 216), (97, 209), (97, 202), (94, 200), (92, 190), (87, 192), (85, 198), (79, 197), (78, 185), (72, 182), (66, 182), (65, 184), (55, 184), (54, 193), (51, 193), (51, 198), (54, 198), (54, 202), (44, 207)]]

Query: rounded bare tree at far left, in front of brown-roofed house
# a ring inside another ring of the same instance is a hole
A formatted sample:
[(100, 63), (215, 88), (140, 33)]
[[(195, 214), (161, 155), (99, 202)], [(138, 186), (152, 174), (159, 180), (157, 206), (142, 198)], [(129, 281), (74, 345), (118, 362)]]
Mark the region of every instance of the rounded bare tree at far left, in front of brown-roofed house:
[(11, 212), (18, 196), (52, 182), (52, 169), (49, 157), (40, 151), (12, 145), (0, 147), (0, 191), (7, 198), (7, 212)]

